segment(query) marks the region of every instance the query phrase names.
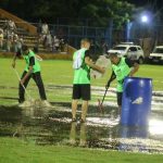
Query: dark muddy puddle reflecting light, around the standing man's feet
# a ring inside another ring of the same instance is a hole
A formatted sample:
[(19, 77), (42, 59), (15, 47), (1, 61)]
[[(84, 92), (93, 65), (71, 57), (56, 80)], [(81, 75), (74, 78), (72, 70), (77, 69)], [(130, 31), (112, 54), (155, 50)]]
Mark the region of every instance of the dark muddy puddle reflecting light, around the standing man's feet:
[(116, 108), (104, 106), (101, 113), (90, 105), (87, 123), (71, 123), (71, 103), (53, 105), (53, 109), (1, 106), (0, 136), (20, 137), (36, 145), (163, 152), (162, 111), (151, 113), (149, 128), (134, 128), (120, 125)]

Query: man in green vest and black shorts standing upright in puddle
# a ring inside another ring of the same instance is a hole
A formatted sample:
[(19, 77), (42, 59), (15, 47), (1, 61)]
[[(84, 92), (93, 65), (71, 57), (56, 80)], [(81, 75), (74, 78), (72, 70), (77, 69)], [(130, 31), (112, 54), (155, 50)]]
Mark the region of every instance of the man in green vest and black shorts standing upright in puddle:
[(90, 41), (85, 38), (80, 41), (80, 49), (74, 52), (73, 67), (73, 101), (72, 101), (72, 121), (76, 121), (76, 110), (78, 100), (83, 100), (80, 122), (86, 121), (88, 101), (90, 100), (90, 68), (104, 73), (104, 68), (96, 65), (89, 55)]

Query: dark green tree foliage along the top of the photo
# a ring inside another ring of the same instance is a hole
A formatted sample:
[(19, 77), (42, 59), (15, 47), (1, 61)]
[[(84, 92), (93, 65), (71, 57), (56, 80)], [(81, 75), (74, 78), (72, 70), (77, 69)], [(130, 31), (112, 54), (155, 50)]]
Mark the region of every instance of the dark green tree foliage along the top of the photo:
[(133, 4), (118, 0), (35, 0), (35, 3), (34, 0), (4, 0), (0, 5), (33, 22), (46, 18), (54, 23), (55, 18), (68, 17), (88, 20), (87, 25), (91, 26), (106, 26), (112, 18), (117, 27), (130, 18), (134, 9)]

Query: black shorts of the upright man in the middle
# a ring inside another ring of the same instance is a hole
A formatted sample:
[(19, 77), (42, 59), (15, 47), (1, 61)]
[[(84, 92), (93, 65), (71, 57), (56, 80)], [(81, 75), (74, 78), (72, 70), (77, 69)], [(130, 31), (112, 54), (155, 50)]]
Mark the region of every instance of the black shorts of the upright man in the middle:
[(73, 85), (73, 99), (90, 100), (90, 85)]

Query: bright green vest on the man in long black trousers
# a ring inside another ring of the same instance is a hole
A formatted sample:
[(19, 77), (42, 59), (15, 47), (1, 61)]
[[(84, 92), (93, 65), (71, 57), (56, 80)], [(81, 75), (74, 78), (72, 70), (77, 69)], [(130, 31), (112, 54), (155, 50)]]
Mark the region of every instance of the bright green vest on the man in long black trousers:
[[(29, 50), (28, 54), (23, 54), (23, 58), (26, 62), (26, 67), (25, 67), (25, 71), (28, 72), (29, 70), (29, 66), (33, 65), (33, 73), (37, 73), (37, 72), (40, 72), (40, 64), (39, 62), (36, 60), (36, 57), (35, 57), (35, 53)], [(34, 63), (32, 64), (32, 58), (34, 58)]]

